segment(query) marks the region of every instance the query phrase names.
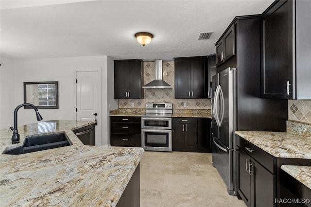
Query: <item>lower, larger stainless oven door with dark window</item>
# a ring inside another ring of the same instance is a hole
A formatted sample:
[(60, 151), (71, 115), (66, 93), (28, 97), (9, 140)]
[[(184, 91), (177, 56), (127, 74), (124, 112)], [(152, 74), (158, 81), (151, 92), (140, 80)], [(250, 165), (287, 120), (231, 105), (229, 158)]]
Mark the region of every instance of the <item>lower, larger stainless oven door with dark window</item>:
[(146, 151), (172, 152), (172, 130), (142, 129), (141, 145)]

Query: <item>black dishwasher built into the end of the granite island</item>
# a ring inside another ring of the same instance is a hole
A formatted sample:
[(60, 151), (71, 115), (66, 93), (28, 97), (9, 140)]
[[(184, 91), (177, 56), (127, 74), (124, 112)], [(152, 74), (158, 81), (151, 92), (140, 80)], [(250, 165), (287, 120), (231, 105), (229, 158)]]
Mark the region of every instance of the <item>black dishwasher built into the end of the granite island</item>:
[(95, 124), (72, 130), (72, 132), (82, 141), (84, 145), (95, 146)]

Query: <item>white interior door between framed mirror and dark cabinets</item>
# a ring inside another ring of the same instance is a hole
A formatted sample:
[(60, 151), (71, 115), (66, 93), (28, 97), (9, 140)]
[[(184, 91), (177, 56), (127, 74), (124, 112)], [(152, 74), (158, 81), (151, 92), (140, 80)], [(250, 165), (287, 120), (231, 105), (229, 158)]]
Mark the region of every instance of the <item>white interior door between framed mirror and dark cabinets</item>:
[[(76, 120), (77, 121), (100, 121), (100, 75), (98, 71), (77, 71), (76, 72)], [(97, 117), (94, 114), (97, 113)], [(96, 127), (96, 139), (100, 137)]]

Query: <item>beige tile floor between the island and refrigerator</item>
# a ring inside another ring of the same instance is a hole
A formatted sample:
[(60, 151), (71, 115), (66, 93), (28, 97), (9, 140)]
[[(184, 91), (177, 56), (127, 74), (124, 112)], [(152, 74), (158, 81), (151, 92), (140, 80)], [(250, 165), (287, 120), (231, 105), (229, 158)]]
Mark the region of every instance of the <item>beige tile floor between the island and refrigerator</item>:
[(245, 207), (228, 195), (212, 154), (145, 152), (140, 161), (140, 207)]

